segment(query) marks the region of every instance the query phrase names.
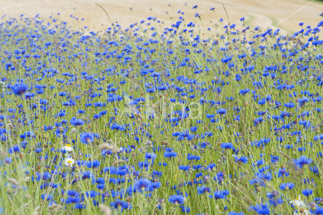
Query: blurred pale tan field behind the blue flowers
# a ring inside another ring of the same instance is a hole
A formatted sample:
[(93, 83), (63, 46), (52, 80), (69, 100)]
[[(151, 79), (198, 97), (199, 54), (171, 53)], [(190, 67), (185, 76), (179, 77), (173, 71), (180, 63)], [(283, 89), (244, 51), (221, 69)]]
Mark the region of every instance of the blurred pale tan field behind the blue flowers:
[[(41, 18), (48, 18), (50, 15), (55, 18), (60, 17), (61, 20), (67, 21), (73, 27), (88, 26), (94, 30), (105, 30), (107, 26), (110, 26), (110, 23), (104, 12), (94, 2), (97, 2), (107, 11), (113, 22), (118, 21), (123, 27), (128, 27), (136, 21), (140, 22), (148, 16), (156, 17), (164, 21), (165, 24), (170, 24), (172, 23), (170, 17), (172, 16), (174, 17), (173, 21), (177, 21), (180, 15), (177, 14), (178, 10), (185, 12), (181, 16), (186, 21), (195, 20), (197, 24), (200, 24), (200, 21), (194, 17), (194, 14), (198, 12), (204, 25), (209, 27), (211, 25), (210, 20), (213, 23), (218, 22), (220, 18), (225, 21), (228, 20), (222, 6), (223, 3), (231, 23), (238, 24), (240, 23), (240, 18), (245, 17), (248, 25), (262, 28), (276, 25), (310, 3), (310, 1), (306, 0), (0, 0), (2, 6), (0, 14), (18, 18), (20, 14), (29, 16), (28, 13), (31, 15), (39, 13)], [(187, 4), (186, 6), (184, 5), (185, 3)], [(195, 4), (198, 5), (197, 11), (192, 9), (192, 5)], [(209, 10), (211, 7), (216, 8), (215, 13)], [(130, 11), (130, 8), (132, 8), (132, 11)], [(58, 13), (60, 15), (57, 15)], [(323, 4), (315, 1), (280, 23), (278, 27), (284, 33), (300, 30), (301, 28), (298, 25), (300, 22), (314, 27), (322, 20), (319, 17), (320, 13), (323, 13)], [(81, 21), (81, 18), (84, 18), (84, 20)], [(320, 35), (322, 35), (321, 33)]]

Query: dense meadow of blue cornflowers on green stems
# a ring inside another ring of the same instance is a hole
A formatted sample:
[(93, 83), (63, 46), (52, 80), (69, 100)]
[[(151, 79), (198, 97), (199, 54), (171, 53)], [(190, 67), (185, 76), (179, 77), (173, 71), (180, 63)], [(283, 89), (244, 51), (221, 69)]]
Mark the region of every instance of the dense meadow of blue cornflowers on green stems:
[(323, 214), (323, 21), (183, 14), (2, 17), (0, 213)]

